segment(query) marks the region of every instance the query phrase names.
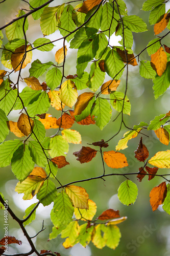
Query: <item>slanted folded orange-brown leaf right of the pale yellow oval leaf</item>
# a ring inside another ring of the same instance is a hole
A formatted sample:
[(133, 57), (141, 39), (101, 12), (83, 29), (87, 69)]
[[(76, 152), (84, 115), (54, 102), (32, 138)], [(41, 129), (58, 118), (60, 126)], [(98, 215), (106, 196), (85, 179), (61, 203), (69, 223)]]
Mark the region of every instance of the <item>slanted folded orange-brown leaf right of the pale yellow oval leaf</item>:
[(80, 115), (83, 110), (85, 110), (89, 101), (93, 98), (94, 93), (82, 93), (78, 96), (77, 102), (75, 104), (75, 113), (74, 115)]

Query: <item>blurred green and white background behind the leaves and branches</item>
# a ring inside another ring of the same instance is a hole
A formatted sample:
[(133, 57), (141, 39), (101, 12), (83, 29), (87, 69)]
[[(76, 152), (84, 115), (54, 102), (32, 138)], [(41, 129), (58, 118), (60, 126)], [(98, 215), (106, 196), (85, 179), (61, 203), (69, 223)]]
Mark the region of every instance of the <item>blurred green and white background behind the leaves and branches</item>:
[[(65, 1), (56, 0), (50, 6), (56, 6), (64, 3)], [(134, 45), (133, 51), (135, 54), (138, 54), (143, 48), (148, 45), (148, 42), (156, 36), (154, 36), (153, 26), (149, 25), (149, 12), (144, 12), (140, 10), (142, 8), (143, 0), (125, 0), (127, 4), (128, 14), (135, 14), (143, 18), (144, 22), (148, 25), (148, 31), (144, 33), (134, 33)], [(75, 3), (72, 3), (75, 4)], [(166, 4), (166, 11), (170, 8), (170, 4)], [(6, 0), (6, 2), (0, 5), (0, 24), (3, 26), (6, 22), (10, 22), (11, 19), (15, 17), (17, 14), (16, 11), (19, 8), (28, 9), (27, 3), (20, 0)], [(3, 31), (4, 32), (4, 31)], [(161, 33), (164, 35), (166, 33), (166, 29)], [(5, 33), (4, 33), (5, 34)], [(59, 32), (56, 31), (53, 35), (47, 36), (52, 40), (56, 39), (59, 36)], [(27, 40), (29, 42), (33, 42), (36, 38), (43, 37), (40, 27), (39, 20), (36, 22), (32, 17), (29, 17), (29, 30), (27, 31)], [(111, 44), (118, 45), (118, 40), (120, 37), (112, 36)], [(4, 38), (4, 45), (6, 44), (7, 39)], [(163, 39), (163, 44), (170, 47), (169, 44), (169, 36)], [(67, 44), (69, 47), (69, 45)], [(42, 62), (46, 61), (55, 61), (55, 52), (62, 47), (62, 41), (57, 42), (56, 47), (52, 52), (39, 52), (35, 50), (33, 53), (33, 60), (39, 58)], [(67, 47), (67, 48), (68, 48)], [(74, 54), (76, 50), (69, 49), (67, 52), (66, 58), (66, 72), (65, 74), (75, 74), (76, 73), (76, 58), (74, 58)], [(147, 51), (144, 51), (140, 55), (140, 60), (150, 60)], [(29, 76), (29, 68), (31, 65), (27, 66), (27, 69), (22, 71), (22, 77)], [(4, 69), (3, 66), (0, 67)], [(87, 69), (88, 71), (88, 69)], [(12, 74), (11, 80), (16, 80), (18, 72), (16, 74)], [(123, 74), (123, 77), (120, 82), (119, 90), (124, 91), (125, 89), (125, 78), (126, 71)], [(43, 82), (45, 80), (45, 76), (42, 76), (40, 81)], [(106, 76), (106, 80), (108, 77)], [(20, 83), (21, 88), (25, 87), (24, 83)], [(155, 116), (160, 114), (167, 113), (169, 111), (169, 96), (170, 90), (168, 89), (164, 95), (160, 96), (157, 100), (154, 99), (153, 93), (153, 82), (152, 80), (147, 80), (139, 75), (139, 66), (132, 67), (129, 66), (129, 79), (128, 79), (128, 97), (131, 102), (131, 116), (125, 116), (126, 125), (128, 127), (133, 127), (134, 124), (138, 124), (140, 121), (150, 122), (150, 120), (154, 119)], [(51, 113), (53, 116), (59, 117), (60, 113), (53, 108), (50, 108), (48, 113)], [(116, 117), (117, 113), (113, 110), (112, 120)], [(18, 119), (18, 111), (13, 111), (9, 116), (9, 120), (17, 120)], [(100, 155), (97, 155), (91, 162), (80, 164), (79, 161), (76, 160), (76, 157), (72, 155), (75, 151), (79, 151), (82, 146), (87, 146), (87, 143), (92, 143), (94, 141), (99, 141), (101, 139), (108, 140), (111, 138), (119, 129), (120, 119), (117, 119), (115, 122), (109, 122), (109, 124), (104, 128), (103, 131), (95, 125), (83, 126), (79, 124), (74, 124), (72, 129), (75, 129), (80, 132), (82, 135), (82, 145), (69, 145), (69, 152), (67, 155), (67, 161), (70, 162), (70, 165), (65, 166), (63, 169), (58, 170), (57, 178), (60, 180), (62, 184), (66, 184), (71, 181), (76, 181), (80, 179), (86, 179), (89, 177), (99, 176), (103, 173), (102, 160)], [(46, 136), (50, 136), (54, 134), (56, 130), (51, 129), (46, 131)], [(116, 136), (113, 140), (109, 142), (109, 147), (107, 150), (115, 150), (115, 145), (118, 140), (123, 137), (123, 134), (127, 132), (127, 129), (123, 127), (121, 132)], [(159, 142), (155, 133), (152, 131), (144, 131), (144, 134), (148, 135), (143, 137), (143, 144), (148, 147), (150, 152), (150, 157), (152, 157), (158, 151), (165, 151), (169, 149), (169, 146), (165, 146)], [(14, 139), (15, 136), (12, 133), (7, 136), (7, 140)], [(116, 169), (112, 170), (111, 168), (106, 166), (106, 173), (128, 173), (128, 172), (137, 172), (138, 168), (141, 167), (140, 163), (134, 157), (134, 151), (138, 146), (140, 136), (135, 139), (132, 139), (128, 142), (128, 148), (124, 151), (120, 151), (124, 153), (127, 157), (129, 166), (124, 169)], [(158, 174), (168, 173), (167, 169), (160, 169)], [(36, 202), (36, 199), (30, 201), (23, 201), (22, 195), (18, 195), (14, 189), (17, 183), (15, 176), (11, 172), (10, 167), (1, 168), (0, 170), (1, 179), (0, 179), (0, 187), (1, 192), (4, 194), (5, 199), (8, 200), (10, 207), (14, 210), (15, 214), (22, 218), (25, 215), (25, 209), (30, 206), (32, 203)], [(29, 226), (26, 226), (28, 233), (30, 236), (35, 236), (35, 234), (41, 230), (42, 221), (44, 220), (44, 227), (46, 229), (41, 232), (35, 239), (33, 239), (34, 243), (37, 246), (38, 250), (46, 249), (52, 251), (58, 251), (63, 255), (71, 255), (71, 256), (90, 256), (90, 255), (108, 255), (108, 256), (129, 256), (129, 255), (170, 255), (170, 243), (169, 243), (169, 235), (170, 235), (170, 225), (169, 225), (169, 216), (164, 212), (159, 206), (159, 208), (153, 212), (150, 205), (149, 194), (151, 189), (154, 186), (159, 185), (163, 180), (161, 178), (155, 177), (151, 181), (147, 181), (147, 177), (145, 177), (142, 182), (138, 182), (137, 178), (131, 177), (132, 181), (134, 181), (138, 186), (138, 197), (134, 205), (125, 206), (119, 202), (117, 198), (117, 189), (125, 178), (119, 176), (110, 176), (106, 178), (106, 181), (94, 180), (88, 181), (84, 183), (77, 183), (76, 185), (83, 186), (87, 193), (89, 194), (89, 198), (93, 200), (98, 206), (98, 211), (96, 216), (99, 216), (104, 210), (108, 208), (113, 208), (115, 210), (119, 210), (120, 215), (127, 216), (128, 219), (119, 224), (118, 227), (122, 233), (122, 239), (120, 240), (119, 246), (115, 250), (111, 250), (107, 247), (104, 247), (102, 250), (95, 248), (92, 243), (89, 244), (86, 248), (83, 248), (81, 245), (76, 245), (71, 249), (64, 249), (62, 246), (63, 239), (57, 238), (51, 241), (48, 240), (49, 233), (52, 231), (52, 223), (49, 219), (50, 211), (52, 209), (52, 205), (50, 206), (40, 206), (37, 209), (36, 220), (33, 221)], [(56, 186), (58, 184), (56, 183)], [(4, 229), (3, 229), (3, 211), (0, 211), (1, 215), (1, 230), (0, 230), (0, 238), (4, 237)], [(9, 235), (15, 236), (17, 239), (22, 241), (22, 245), (10, 245), (9, 252), (27, 252), (30, 250), (30, 247), (27, 243), (27, 240), (23, 236), (18, 224), (12, 220), (9, 216)]]

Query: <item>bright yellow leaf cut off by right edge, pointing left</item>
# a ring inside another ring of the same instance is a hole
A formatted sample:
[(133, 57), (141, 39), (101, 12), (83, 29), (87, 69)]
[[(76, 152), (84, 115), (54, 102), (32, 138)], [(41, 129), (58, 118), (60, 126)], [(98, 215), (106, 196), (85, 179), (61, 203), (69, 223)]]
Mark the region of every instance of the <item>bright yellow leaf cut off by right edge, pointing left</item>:
[(158, 168), (169, 168), (170, 166), (170, 150), (157, 152), (148, 163)]

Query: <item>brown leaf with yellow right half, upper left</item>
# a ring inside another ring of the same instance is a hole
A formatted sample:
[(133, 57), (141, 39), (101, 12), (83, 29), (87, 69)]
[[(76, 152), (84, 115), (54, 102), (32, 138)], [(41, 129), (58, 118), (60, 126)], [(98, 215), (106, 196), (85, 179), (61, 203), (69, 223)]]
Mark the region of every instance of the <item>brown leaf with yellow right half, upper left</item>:
[[(28, 45), (27, 51), (31, 49), (32, 47)], [(24, 55), (25, 55), (25, 45), (16, 48), (14, 53), (11, 55), (11, 64), (15, 72), (20, 69), (21, 61)], [(24, 69), (27, 66), (27, 64), (31, 62), (32, 55), (33, 55), (32, 51), (27, 53), (26, 59), (23, 61), (22, 69)]]

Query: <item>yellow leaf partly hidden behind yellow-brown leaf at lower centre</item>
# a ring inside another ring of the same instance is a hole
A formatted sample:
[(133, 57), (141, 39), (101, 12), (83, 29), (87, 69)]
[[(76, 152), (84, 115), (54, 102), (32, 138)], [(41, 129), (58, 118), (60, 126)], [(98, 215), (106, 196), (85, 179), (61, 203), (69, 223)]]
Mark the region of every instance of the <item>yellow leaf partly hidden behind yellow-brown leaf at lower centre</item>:
[(88, 210), (75, 208), (75, 216), (77, 220), (81, 219), (81, 221), (91, 221), (93, 219), (96, 214), (97, 206), (91, 199), (88, 200), (88, 206)]

